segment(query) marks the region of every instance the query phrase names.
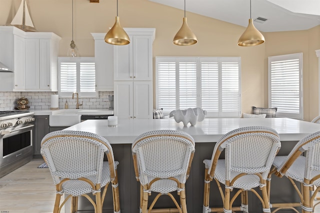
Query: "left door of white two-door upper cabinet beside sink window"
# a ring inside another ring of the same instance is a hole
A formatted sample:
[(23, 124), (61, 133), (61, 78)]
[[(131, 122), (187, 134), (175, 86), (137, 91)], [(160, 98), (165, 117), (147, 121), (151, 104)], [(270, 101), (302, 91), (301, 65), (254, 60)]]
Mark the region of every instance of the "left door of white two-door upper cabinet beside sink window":
[(25, 45), (25, 89), (39, 88), (39, 39), (27, 38)]

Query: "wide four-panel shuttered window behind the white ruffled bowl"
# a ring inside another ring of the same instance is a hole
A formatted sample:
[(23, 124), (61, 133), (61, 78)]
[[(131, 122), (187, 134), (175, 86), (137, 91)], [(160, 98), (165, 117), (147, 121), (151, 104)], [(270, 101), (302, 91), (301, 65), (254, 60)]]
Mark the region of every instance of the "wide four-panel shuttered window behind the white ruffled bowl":
[(156, 108), (240, 116), (239, 57), (155, 57)]

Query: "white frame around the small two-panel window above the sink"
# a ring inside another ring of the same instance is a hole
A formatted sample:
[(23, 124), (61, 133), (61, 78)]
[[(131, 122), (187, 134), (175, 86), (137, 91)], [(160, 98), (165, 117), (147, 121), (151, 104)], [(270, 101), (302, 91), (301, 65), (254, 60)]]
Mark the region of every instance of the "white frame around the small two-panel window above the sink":
[[(98, 91), (94, 92), (81, 92), (80, 91), (80, 63), (94, 63), (95, 65), (95, 58), (94, 57), (58, 57), (58, 94), (60, 97), (71, 97), (73, 92), (61, 92), (61, 81), (60, 81), (60, 69), (61, 63), (63, 62), (73, 62), (76, 63), (76, 91), (79, 97), (81, 98), (96, 98), (98, 97)], [(96, 75), (96, 71), (95, 71)], [(94, 84), (94, 88), (96, 84)]]

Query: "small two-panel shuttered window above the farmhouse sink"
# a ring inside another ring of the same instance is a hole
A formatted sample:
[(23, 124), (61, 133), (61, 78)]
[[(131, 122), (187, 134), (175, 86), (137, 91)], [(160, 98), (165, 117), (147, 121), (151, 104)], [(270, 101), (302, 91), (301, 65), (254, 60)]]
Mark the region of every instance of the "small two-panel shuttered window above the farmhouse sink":
[(94, 57), (58, 57), (59, 95), (97, 97)]

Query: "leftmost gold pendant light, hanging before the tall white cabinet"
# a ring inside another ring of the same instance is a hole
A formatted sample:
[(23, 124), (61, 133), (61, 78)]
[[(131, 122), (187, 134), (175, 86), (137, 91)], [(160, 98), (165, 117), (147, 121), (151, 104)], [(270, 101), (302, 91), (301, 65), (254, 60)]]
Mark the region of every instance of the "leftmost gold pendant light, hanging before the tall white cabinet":
[(130, 38), (128, 34), (121, 27), (118, 16), (118, 0), (116, 0), (116, 17), (115, 23), (111, 29), (104, 36), (104, 41), (109, 44), (114, 45), (126, 45), (130, 43)]

